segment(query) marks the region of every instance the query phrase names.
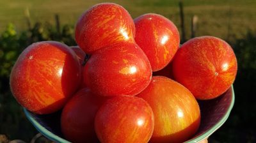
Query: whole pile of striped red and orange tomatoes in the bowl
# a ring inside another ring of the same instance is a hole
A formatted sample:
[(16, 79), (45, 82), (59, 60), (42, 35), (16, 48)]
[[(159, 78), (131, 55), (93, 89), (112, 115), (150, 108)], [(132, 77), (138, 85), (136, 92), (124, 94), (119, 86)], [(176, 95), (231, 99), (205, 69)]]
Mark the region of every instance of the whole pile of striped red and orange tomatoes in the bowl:
[(100, 3), (76, 24), (78, 46), (33, 43), (10, 75), (13, 96), (35, 114), (62, 110), (71, 142), (184, 142), (200, 125), (196, 100), (211, 100), (234, 82), (228, 43), (201, 36), (180, 46), (172, 21)]

